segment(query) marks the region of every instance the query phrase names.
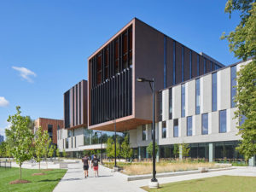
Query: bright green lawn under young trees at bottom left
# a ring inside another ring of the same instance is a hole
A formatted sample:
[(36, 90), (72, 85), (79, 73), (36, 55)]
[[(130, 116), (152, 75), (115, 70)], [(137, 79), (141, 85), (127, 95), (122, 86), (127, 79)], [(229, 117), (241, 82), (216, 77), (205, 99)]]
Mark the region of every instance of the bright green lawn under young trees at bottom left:
[(32, 176), (32, 174), (36, 172), (39, 171), (32, 169), (22, 169), (22, 179), (31, 181), (31, 183), (9, 184), (9, 182), (20, 178), (20, 169), (5, 169), (0, 167), (0, 191), (53, 191), (67, 170), (56, 169), (53, 171), (44, 172), (45, 175)]

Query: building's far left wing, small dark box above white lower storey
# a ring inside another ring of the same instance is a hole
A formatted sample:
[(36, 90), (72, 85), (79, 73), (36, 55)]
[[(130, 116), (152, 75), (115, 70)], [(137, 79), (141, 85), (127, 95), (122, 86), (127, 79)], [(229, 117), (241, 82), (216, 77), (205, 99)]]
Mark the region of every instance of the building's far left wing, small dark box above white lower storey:
[[(113, 132), (88, 130), (87, 81), (64, 93), (64, 128), (57, 131), (58, 148), (68, 156), (80, 157), (84, 150), (104, 149)], [(118, 133), (123, 135), (123, 133)]]

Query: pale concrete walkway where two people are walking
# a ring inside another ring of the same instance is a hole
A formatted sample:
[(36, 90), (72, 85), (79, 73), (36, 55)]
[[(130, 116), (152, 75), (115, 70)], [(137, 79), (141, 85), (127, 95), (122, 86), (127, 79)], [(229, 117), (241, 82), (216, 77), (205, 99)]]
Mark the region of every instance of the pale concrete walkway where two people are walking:
[[(148, 185), (149, 179), (127, 182), (119, 173), (110, 172), (109, 169), (100, 166), (100, 177), (93, 177), (93, 172), (89, 170), (89, 177), (84, 178), (82, 163), (71, 164), (68, 166), (66, 175), (58, 183), (54, 192), (62, 191), (86, 191), (86, 192), (142, 192), (140, 187)], [(253, 176), (256, 177), (256, 167), (239, 167), (234, 170), (207, 172), (176, 177), (158, 178), (159, 183), (172, 183), (203, 177), (216, 177), (220, 175), (233, 176)]]

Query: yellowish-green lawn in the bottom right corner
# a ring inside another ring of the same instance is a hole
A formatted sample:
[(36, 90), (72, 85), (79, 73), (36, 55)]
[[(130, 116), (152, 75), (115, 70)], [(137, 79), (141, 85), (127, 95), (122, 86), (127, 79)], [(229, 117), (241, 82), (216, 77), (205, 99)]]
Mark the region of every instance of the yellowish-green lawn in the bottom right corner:
[(161, 184), (150, 192), (255, 192), (256, 177), (219, 176)]

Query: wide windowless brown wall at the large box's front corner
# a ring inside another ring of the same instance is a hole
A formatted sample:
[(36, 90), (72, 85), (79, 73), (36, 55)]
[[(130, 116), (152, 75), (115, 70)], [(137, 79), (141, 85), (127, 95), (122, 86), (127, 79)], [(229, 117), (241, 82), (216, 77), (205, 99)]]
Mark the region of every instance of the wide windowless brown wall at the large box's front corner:
[[(164, 86), (164, 34), (140, 20), (135, 20), (135, 63), (133, 93), (135, 118), (152, 119), (152, 92), (147, 82), (137, 78), (155, 79), (155, 91)], [(155, 101), (157, 98), (155, 97)], [(157, 113), (155, 113), (157, 114)]]

